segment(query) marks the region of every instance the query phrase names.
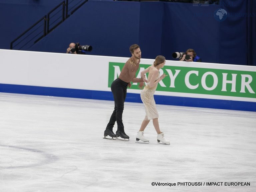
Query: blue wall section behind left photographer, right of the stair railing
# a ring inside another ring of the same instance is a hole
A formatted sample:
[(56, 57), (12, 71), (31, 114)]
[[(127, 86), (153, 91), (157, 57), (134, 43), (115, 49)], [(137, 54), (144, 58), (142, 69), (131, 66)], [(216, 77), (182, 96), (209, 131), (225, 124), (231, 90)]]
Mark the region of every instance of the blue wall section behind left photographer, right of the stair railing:
[(88, 55), (129, 57), (139, 43), (139, 14), (139, 2), (89, 1), (30, 50), (65, 53), (79, 42), (93, 47)]

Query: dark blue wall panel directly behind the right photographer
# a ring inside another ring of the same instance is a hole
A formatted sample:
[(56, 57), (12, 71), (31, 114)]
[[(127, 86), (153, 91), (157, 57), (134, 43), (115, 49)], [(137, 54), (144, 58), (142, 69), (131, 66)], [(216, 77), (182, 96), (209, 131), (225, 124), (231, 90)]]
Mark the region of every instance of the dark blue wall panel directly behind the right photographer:
[(203, 62), (219, 62), (219, 22), (212, 16), (216, 7), (192, 3), (167, 3), (163, 25), (163, 55), (192, 48)]

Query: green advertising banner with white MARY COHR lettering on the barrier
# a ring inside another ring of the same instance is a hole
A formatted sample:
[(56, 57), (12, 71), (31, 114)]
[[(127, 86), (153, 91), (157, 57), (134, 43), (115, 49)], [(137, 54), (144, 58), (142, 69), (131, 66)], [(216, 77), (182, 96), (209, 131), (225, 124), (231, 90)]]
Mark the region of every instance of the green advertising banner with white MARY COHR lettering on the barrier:
[[(124, 63), (109, 62), (108, 87), (116, 79)], [(136, 77), (150, 65), (140, 64)], [(165, 77), (157, 91), (256, 98), (256, 72), (227, 69), (168, 66), (160, 69)], [(139, 89), (132, 86), (131, 89)]]

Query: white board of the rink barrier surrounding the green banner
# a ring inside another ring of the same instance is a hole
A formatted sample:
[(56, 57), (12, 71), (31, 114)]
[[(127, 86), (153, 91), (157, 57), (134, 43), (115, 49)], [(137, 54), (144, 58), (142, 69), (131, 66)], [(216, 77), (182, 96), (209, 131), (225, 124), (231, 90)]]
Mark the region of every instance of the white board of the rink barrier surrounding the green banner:
[[(142, 55), (143, 56), (143, 55)], [(108, 87), (109, 62), (125, 63), (128, 57), (74, 55), (0, 49), (0, 84), (38, 87), (68, 88), (95, 91), (111, 91)], [(141, 64), (153, 64), (153, 59), (141, 59)], [(256, 71), (255, 66), (216, 63), (196, 63), (167, 60), (165, 65)], [(137, 84), (137, 83), (134, 83)], [(129, 89), (129, 93), (140, 93)], [(156, 95), (222, 99), (256, 102), (255, 98), (221, 95), (156, 91)]]

